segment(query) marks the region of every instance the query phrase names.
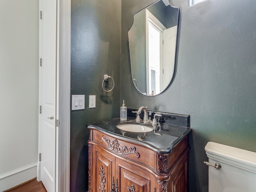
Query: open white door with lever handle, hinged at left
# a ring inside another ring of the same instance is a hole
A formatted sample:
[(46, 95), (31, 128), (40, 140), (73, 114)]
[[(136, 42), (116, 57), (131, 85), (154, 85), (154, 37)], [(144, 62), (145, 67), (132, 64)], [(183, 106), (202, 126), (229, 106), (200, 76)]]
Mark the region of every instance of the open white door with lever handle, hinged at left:
[(56, 190), (56, 0), (41, 0), (40, 57), (41, 180), (48, 192)]

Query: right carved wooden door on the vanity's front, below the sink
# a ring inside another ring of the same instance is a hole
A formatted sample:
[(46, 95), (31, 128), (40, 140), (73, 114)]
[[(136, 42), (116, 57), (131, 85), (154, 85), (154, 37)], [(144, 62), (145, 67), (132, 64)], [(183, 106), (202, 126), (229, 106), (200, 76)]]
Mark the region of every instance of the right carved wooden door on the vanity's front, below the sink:
[[(120, 192), (150, 192), (150, 174), (116, 158), (116, 176)], [(153, 191), (153, 190), (152, 190)]]

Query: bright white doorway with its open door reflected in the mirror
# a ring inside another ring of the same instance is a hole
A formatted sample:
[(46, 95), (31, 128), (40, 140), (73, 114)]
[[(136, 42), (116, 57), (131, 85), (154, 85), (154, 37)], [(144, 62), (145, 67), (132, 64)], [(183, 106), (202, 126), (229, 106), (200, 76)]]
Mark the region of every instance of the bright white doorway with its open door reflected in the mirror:
[(162, 92), (174, 72), (177, 26), (166, 27), (146, 10), (146, 94)]

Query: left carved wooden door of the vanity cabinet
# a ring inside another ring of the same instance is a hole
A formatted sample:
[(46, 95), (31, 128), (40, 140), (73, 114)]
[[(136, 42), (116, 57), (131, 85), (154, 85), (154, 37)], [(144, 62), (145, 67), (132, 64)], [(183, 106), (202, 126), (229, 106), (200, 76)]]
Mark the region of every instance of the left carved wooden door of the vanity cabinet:
[[(92, 150), (94, 153), (92, 159), (92, 191), (110, 192), (112, 178), (115, 174), (115, 158), (97, 146), (93, 146)], [(93, 183), (93, 181), (96, 181), (96, 183)]]

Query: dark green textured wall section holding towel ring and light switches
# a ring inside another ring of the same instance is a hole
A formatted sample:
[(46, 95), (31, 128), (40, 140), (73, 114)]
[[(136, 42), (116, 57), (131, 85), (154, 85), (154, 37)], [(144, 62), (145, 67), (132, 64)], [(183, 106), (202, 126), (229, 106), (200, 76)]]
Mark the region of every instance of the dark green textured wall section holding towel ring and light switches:
[[(120, 40), (120, 0), (71, 0), (71, 95), (85, 95), (85, 110), (71, 111), (70, 192), (88, 191), (86, 124), (120, 114)], [(108, 93), (104, 74), (115, 80)], [(88, 108), (89, 95), (96, 108)]]

